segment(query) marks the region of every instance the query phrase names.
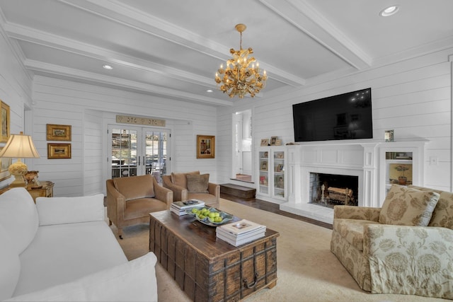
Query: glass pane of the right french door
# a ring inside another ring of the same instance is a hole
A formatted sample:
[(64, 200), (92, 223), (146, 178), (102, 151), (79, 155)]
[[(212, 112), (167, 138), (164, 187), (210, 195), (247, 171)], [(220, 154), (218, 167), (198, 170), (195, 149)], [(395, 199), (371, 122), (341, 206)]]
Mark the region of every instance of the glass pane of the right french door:
[(161, 175), (166, 174), (166, 159), (166, 132), (147, 131), (145, 134), (146, 173), (151, 173), (158, 182), (161, 182)]

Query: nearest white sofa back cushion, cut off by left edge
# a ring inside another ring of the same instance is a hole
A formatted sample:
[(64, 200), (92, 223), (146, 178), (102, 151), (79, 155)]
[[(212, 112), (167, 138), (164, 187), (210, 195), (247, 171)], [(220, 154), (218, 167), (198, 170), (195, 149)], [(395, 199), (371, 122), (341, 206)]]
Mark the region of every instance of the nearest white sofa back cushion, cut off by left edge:
[(0, 301), (13, 296), (14, 289), (21, 273), (19, 254), (11, 242), (11, 238), (0, 225)]

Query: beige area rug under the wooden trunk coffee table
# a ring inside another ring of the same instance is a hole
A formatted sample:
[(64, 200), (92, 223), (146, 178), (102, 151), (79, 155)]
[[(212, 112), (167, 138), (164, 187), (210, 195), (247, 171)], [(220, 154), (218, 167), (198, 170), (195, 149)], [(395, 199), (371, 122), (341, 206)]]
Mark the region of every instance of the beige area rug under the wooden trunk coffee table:
[[(331, 230), (285, 216), (253, 209), (221, 199), (220, 209), (241, 218), (264, 224), (280, 233), (277, 238), (277, 286), (262, 289), (246, 302), (261, 301), (446, 301), (420, 296), (369, 294), (362, 291), (330, 251)], [(112, 226), (116, 234), (115, 226)], [(149, 226), (141, 224), (123, 229), (118, 240), (132, 260), (148, 252)], [(190, 301), (160, 264), (156, 265), (159, 301)]]

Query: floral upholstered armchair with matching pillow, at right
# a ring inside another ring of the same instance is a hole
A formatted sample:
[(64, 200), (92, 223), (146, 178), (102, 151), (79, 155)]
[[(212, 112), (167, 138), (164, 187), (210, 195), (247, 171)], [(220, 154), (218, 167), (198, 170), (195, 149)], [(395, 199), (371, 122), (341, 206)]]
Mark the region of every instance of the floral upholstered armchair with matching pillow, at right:
[(331, 251), (361, 289), (453, 299), (453, 193), (392, 185), (382, 208), (333, 217)]

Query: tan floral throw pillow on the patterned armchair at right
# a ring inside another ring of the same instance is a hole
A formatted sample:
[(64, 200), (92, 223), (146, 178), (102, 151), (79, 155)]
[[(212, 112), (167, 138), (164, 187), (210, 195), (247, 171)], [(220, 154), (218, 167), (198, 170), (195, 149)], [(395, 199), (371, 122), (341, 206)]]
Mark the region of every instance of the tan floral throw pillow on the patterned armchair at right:
[(386, 195), (379, 223), (400, 226), (428, 226), (439, 194), (392, 185)]

